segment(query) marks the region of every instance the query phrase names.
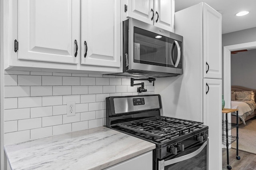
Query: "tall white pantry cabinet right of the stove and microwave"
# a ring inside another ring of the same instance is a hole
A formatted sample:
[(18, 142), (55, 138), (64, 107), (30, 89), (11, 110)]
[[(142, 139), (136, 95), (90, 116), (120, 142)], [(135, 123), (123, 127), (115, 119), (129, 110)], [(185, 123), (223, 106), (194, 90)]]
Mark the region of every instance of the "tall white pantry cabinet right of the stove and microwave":
[(164, 115), (209, 127), (209, 170), (222, 167), (221, 18), (203, 2), (176, 12), (175, 33), (183, 36), (184, 73), (155, 82)]

